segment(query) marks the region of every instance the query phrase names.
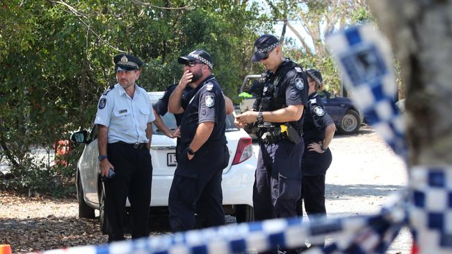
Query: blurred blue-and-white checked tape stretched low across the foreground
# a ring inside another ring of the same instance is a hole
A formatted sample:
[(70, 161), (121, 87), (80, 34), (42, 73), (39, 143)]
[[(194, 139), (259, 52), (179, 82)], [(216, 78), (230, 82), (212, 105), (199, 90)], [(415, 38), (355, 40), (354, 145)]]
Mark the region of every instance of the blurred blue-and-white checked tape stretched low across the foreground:
[(403, 209), (392, 205), (380, 214), (338, 219), (318, 218), (302, 223), (301, 218), (273, 219), (179, 232), (136, 241), (114, 242), (99, 246), (83, 246), (45, 251), (45, 254), (86, 253), (243, 253), (268, 251), (278, 246), (296, 248), (305, 240), (321, 243), (325, 237), (337, 241), (312, 253), (384, 253), (405, 221)]

